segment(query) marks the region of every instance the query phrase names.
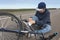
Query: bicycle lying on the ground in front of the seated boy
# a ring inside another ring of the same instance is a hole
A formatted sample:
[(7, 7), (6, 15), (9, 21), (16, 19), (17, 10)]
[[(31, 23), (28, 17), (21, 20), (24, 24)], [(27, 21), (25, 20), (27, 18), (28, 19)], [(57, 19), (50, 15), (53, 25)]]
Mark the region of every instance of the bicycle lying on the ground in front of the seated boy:
[[(36, 34), (39, 34), (39, 35), (41, 35), (41, 37), (40, 37), (40, 39), (39, 40), (51, 40), (57, 33), (54, 33), (54, 35), (53, 35), (53, 37), (52, 38), (50, 38), (50, 36), (49, 37), (47, 37), (47, 38), (45, 38), (44, 37), (44, 34), (42, 34), (42, 33), (35, 33), (34, 31), (25, 31), (24, 29), (23, 29), (23, 25), (22, 25), (22, 18), (21, 18), (21, 16), (20, 16), (20, 19), (19, 18), (17, 18), (15, 15), (13, 15), (13, 14), (11, 14), (11, 13), (7, 13), (7, 12), (0, 12), (0, 16), (2, 16), (2, 18), (4, 19), (4, 17), (6, 16), (6, 17), (9, 17), (10, 18), (10, 21), (12, 21), (12, 22), (14, 22), (14, 23), (16, 23), (17, 25), (16, 25), (16, 29), (13, 29), (13, 28), (7, 28), (7, 27), (4, 27), (4, 26), (2, 26), (2, 27), (0, 27), (0, 32), (2, 32), (2, 36), (3, 36), (3, 33), (4, 32), (6, 32), (6, 33), (16, 33), (15, 35), (17, 36), (16, 37), (16, 40), (23, 40), (23, 36), (25, 35), (25, 34), (35, 34), (35, 36), (36, 36)], [(7, 35), (6, 35), (7, 36)], [(20, 38), (20, 37), (22, 37), (22, 38)], [(8, 40), (8, 39), (5, 39), (5, 38), (2, 38), (1, 40)], [(13, 40), (13, 39), (9, 39), (9, 40)], [(25, 40), (25, 39), (24, 39)], [(38, 39), (36, 39), (36, 40), (38, 40)]]

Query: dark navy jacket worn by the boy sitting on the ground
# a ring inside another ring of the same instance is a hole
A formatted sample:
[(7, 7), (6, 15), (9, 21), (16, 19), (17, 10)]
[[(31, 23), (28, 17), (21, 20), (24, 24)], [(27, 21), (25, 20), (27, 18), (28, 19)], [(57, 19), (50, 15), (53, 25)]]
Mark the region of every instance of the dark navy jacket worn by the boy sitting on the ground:
[(42, 26), (44, 24), (51, 25), (50, 12), (48, 11), (48, 9), (46, 9), (44, 13), (40, 13), (39, 11), (37, 11), (35, 16), (37, 16), (39, 19), (39, 21), (36, 21), (36, 24), (38, 26)]

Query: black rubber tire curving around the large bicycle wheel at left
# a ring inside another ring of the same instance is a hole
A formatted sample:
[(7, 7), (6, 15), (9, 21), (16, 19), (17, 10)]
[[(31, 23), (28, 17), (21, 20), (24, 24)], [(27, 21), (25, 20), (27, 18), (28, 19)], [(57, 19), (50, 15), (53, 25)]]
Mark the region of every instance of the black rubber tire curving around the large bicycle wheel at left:
[[(19, 32), (22, 30), (22, 27), (21, 27), (21, 21), (19, 20), (19, 18), (17, 18), (15, 15), (13, 15), (13, 14), (11, 14), (11, 13), (8, 13), (8, 12), (0, 12), (0, 16), (9, 16), (9, 17), (13, 17), (13, 18), (15, 18), (16, 20), (17, 20), (17, 23), (18, 23), (18, 27), (19, 27)], [(18, 33), (19, 34), (19, 33)], [(20, 36), (20, 34), (18, 35), (18, 38), (17, 38), (17, 40), (19, 40), (19, 36)]]

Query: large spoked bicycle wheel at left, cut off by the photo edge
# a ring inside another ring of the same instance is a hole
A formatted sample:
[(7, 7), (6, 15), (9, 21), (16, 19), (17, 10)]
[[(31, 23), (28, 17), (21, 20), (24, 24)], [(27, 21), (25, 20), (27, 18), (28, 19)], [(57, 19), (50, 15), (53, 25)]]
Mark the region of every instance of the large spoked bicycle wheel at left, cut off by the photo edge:
[[(13, 14), (0, 12), (0, 28), (21, 31), (21, 21)], [(0, 40), (19, 40), (19, 36), (16, 33), (1, 31)]]

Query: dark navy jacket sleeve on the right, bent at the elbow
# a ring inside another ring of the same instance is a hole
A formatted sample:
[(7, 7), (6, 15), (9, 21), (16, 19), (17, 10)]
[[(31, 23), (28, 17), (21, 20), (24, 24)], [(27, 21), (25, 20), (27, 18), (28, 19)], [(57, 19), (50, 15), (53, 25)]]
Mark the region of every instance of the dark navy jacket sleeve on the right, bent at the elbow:
[[(37, 14), (36, 14), (36, 16), (37, 16)], [(44, 15), (44, 17), (43, 17), (42, 20), (36, 21), (36, 24), (37, 24), (38, 26), (42, 26), (42, 25), (44, 25), (44, 24), (50, 24), (50, 12), (47, 12), (47, 13)]]

